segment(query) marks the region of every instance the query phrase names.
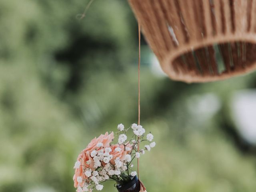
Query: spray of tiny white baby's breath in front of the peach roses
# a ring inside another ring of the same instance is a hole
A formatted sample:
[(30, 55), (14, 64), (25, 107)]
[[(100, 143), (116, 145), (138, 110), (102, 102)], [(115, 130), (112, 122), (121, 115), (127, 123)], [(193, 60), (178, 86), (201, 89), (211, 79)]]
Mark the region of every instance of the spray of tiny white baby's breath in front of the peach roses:
[[(81, 165), (78, 160), (74, 168), (78, 169), (82, 166), (83, 175), (76, 177), (76, 182), (79, 184), (77, 192), (92, 192), (93, 189), (102, 190), (102, 182), (106, 180), (115, 180), (119, 184), (127, 181), (130, 177), (136, 176), (136, 171), (132, 170), (134, 166), (132, 160), (140, 158), (145, 150), (150, 151), (156, 146), (152, 142), (154, 136), (149, 133), (146, 136), (145, 129), (137, 124), (132, 124), (130, 128), (133, 130), (133, 136), (127, 140), (127, 131), (123, 124), (118, 125), (118, 144), (105, 147), (101, 142), (96, 144), (96, 149), (90, 152), (90, 158), (85, 165)], [(138, 149), (138, 143), (148, 142), (142, 149)], [(118, 155), (116, 155), (118, 154)]]

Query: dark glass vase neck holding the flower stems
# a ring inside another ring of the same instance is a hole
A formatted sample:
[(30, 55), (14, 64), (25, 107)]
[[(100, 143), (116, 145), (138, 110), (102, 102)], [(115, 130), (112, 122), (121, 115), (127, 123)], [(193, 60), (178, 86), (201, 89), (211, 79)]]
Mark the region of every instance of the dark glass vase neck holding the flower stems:
[(140, 181), (137, 176), (130, 176), (131, 180), (125, 184), (116, 186), (118, 192), (140, 192)]

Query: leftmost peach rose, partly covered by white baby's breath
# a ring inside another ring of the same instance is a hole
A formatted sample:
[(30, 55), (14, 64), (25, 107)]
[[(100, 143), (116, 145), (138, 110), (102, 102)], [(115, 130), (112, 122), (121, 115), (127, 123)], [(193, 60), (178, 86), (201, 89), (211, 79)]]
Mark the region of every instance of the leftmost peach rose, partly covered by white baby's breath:
[[(110, 147), (110, 142), (112, 142), (112, 140), (114, 139), (114, 133), (111, 132), (110, 134), (108, 134), (108, 132), (106, 132), (105, 135), (100, 135), (98, 138), (94, 138), (93, 140), (91, 140), (91, 142), (88, 144), (88, 146), (82, 150), (82, 152), (78, 155), (77, 160), (81, 162), (81, 165), (79, 168), (76, 168), (75, 170), (75, 174), (73, 176), (73, 180), (74, 180), (74, 187), (82, 187), (84, 186), (84, 180), (87, 179), (87, 176), (84, 174), (84, 168), (90, 168), (92, 171), (95, 170), (95, 168), (93, 168), (94, 166), (94, 162), (93, 162), (93, 158), (90, 156), (90, 153), (93, 150), (99, 150), (100, 148), (97, 147), (98, 143), (102, 143), (103, 146), (101, 148), (106, 148), (106, 147)], [(88, 160), (90, 160), (90, 164), (88, 165), (86, 162), (88, 162)], [(77, 182), (77, 178), (78, 177), (82, 177), (82, 182), (78, 183)]]

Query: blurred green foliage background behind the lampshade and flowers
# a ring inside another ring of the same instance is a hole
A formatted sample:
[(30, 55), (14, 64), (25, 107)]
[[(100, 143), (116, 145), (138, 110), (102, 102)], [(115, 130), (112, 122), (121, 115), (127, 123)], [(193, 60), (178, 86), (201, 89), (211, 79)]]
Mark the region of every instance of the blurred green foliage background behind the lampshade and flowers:
[[(74, 162), (137, 122), (138, 29), (126, 0), (0, 1), (0, 191), (73, 192)], [(142, 40), (150, 192), (255, 192), (256, 73), (174, 82)], [(108, 182), (103, 191), (116, 191)]]

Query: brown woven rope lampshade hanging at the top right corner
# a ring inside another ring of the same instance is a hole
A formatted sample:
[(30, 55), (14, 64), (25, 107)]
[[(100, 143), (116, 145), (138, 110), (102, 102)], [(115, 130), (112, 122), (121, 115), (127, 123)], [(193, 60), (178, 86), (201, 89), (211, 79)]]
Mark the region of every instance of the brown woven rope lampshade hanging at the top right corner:
[(256, 0), (129, 0), (170, 78), (208, 82), (256, 69)]

